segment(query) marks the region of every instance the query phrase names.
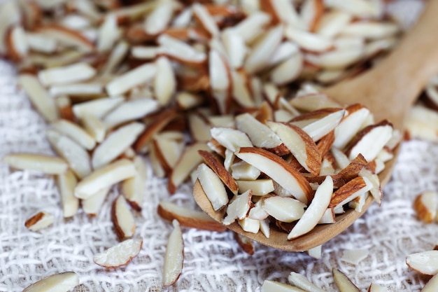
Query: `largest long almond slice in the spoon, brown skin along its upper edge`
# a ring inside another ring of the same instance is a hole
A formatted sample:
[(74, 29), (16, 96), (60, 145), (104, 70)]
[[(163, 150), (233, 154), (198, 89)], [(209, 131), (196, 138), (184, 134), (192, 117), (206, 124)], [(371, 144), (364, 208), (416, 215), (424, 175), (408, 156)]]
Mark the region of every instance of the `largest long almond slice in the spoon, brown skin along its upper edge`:
[(306, 204), (311, 200), (313, 193), (304, 176), (277, 155), (260, 148), (243, 147), (236, 156), (267, 174), (299, 201)]

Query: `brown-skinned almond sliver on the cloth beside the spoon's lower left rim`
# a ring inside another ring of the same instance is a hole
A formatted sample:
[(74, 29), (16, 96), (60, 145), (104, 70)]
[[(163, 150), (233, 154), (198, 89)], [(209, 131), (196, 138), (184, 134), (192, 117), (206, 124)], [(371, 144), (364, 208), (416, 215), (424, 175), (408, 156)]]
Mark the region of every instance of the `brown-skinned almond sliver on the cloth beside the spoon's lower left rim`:
[(157, 207), (157, 213), (160, 215), (160, 217), (169, 221), (176, 219), (185, 227), (218, 232), (222, 232), (227, 229), (225, 225), (214, 221), (203, 211), (179, 207), (177, 204), (173, 204), (171, 202), (160, 202)]

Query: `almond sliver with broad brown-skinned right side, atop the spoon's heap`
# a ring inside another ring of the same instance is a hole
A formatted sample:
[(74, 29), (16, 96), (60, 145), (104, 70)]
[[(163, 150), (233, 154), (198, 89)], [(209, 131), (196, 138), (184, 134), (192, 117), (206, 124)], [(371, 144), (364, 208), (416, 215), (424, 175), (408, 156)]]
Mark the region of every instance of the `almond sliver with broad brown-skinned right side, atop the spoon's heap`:
[(320, 173), (321, 154), (309, 134), (295, 125), (272, 122), (268, 125), (280, 137), (290, 153), (297, 158), (300, 165), (313, 175)]

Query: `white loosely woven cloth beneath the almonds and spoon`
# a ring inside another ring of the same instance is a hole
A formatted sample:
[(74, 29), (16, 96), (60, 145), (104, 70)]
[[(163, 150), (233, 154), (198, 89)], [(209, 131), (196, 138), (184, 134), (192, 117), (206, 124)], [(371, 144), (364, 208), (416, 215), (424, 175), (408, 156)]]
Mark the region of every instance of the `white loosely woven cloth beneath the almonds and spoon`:
[[(14, 67), (0, 60), (0, 157), (11, 152), (53, 154), (45, 139), (47, 125), (16, 82)], [(428, 278), (410, 270), (405, 258), (433, 249), (438, 225), (422, 223), (412, 204), (418, 193), (438, 190), (437, 174), (437, 144), (404, 142), (381, 207), (373, 204), (350, 228), (324, 244), (321, 259), (260, 244), (255, 244), (250, 256), (236, 244), (232, 232), (183, 228), (183, 272), (174, 286), (163, 288), (164, 253), (172, 227), (157, 215), (157, 204), (170, 201), (197, 207), (190, 184), (170, 196), (167, 181), (154, 177), (148, 165), (143, 211), (136, 214), (136, 236), (143, 237), (143, 248), (126, 267), (106, 270), (94, 264), (92, 256), (118, 243), (110, 216), (118, 189), (111, 190), (96, 218), (80, 211), (64, 219), (52, 176), (12, 170), (0, 162), (0, 291), (22, 291), (34, 281), (65, 271), (80, 277), (75, 292), (260, 291), (265, 279), (287, 283), (292, 271), (336, 291), (333, 267), (348, 274), (362, 290), (374, 282), (390, 291), (419, 291)], [(53, 214), (55, 223), (31, 232), (24, 221), (37, 211)], [(367, 251), (358, 264), (342, 259), (345, 251), (356, 250)]]

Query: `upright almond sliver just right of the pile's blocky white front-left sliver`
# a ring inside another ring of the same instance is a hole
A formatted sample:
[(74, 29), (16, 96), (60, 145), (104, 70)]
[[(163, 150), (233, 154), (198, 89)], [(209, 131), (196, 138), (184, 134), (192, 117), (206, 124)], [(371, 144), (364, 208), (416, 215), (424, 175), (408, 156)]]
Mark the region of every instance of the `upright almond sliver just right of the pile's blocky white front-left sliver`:
[(146, 193), (146, 162), (139, 155), (136, 155), (132, 162), (134, 162), (136, 174), (122, 182), (122, 192), (129, 204), (137, 211), (140, 211)]

